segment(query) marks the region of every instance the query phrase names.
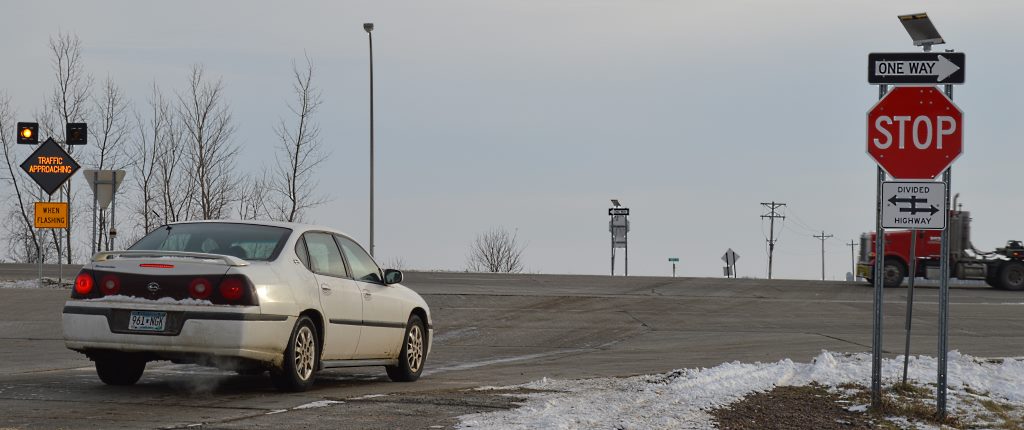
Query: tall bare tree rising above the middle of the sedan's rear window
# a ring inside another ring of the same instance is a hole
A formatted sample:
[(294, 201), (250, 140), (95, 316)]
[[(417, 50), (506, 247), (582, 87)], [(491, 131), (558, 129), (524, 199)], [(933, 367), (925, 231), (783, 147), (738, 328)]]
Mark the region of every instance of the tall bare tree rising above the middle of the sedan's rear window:
[(178, 94), (188, 162), (185, 171), (197, 191), (193, 195), (195, 215), (202, 219), (222, 218), (238, 188), (232, 171), (239, 148), (231, 144), (234, 126), (223, 97), (221, 81), (207, 81), (198, 64), (191, 69), (188, 89)]

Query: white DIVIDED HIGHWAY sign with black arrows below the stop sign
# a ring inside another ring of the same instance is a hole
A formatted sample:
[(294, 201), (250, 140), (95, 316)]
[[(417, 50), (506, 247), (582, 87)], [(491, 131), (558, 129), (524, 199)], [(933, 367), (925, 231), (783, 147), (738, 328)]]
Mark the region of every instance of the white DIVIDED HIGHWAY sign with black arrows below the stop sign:
[(882, 227), (946, 228), (946, 184), (882, 182)]

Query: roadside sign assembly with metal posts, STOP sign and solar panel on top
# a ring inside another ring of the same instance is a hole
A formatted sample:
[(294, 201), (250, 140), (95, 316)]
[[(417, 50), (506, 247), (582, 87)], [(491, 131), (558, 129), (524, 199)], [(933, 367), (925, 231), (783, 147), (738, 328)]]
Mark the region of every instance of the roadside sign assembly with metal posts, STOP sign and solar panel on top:
[[(947, 50), (932, 53), (932, 45), (943, 44), (927, 13), (900, 15), (915, 46), (923, 53), (871, 53), (868, 84), (879, 86), (879, 102), (867, 112), (867, 154), (876, 163), (876, 246), (873, 333), (871, 342), (871, 406), (882, 400), (882, 308), (885, 286), (885, 230), (912, 231), (911, 260), (919, 229), (942, 231), (939, 276), (939, 356), (936, 408), (946, 414), (946, 352), (949, 296), (949, 216), (951, 165), (963, 154), (964, 114), (952, 102), (952, 85), (964, 83), (965, 54)], [(944, 84), (945, 91), (935, 86)], [(889, 85), (896, 85), (888, 91)], [(942, 174), (941, 182), (934, 179)], [(886, 181), (891, 176), (894, 181)], [(915, 179), (916, 181), (906, 181)], [(888, 203), (888, 204), (887, 204)], [(913, 306), (914, 261), (910, 262), (907, 297), (904, 381), (909, 355)]]

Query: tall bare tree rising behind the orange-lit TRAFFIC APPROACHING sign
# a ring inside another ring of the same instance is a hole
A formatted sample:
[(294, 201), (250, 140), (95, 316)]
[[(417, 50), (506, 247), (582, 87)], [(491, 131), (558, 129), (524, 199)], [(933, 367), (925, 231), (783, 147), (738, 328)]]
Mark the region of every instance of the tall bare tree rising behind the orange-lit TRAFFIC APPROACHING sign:
[[(54, 136), (58, 141), (66, 142), (65, 126), (68, 123), (83, 121), (88, 114), (86, 102), (92, 91), (92, 77), (85, 73), (82, 62), (82, 41), (78, 36), (57, 33), (56, 37), (50, 38), (50, 53), (53, 55), (51, 62), (57, 85), (40, 114), (41, 134)], [(75, 147), (65, 144), (65, 150), (74, 156)], [(65, 202), (68, 202), (69, 212), (75, 207), (72, 201), (73, 196), (75, 193), (72, 192), (72, 180), (69, 179), (60, 187), (60, 197)], [(68, 251), (68, 264), (72, 263), (73, 219), (75, 217), (68, 217), (68, 230), (66, 238), (63, 238), (63, 247)], [(54, 236), (54, 242), (57, 242), (55, 238), (59, 230), (53, 228), (50, 232)], [(59, 245), (57, 253), (61, 253)]]

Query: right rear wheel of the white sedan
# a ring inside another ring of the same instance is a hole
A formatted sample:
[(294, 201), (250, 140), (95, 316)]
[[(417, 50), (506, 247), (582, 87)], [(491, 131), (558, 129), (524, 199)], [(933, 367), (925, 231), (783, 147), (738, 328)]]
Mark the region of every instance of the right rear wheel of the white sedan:
[(270, 370), (270, 381), (281, 391), (305, 391), (313, 385), (319, 364), (319, 338), (308, 316), (300, 316), (288, 339), (285, 361)]

